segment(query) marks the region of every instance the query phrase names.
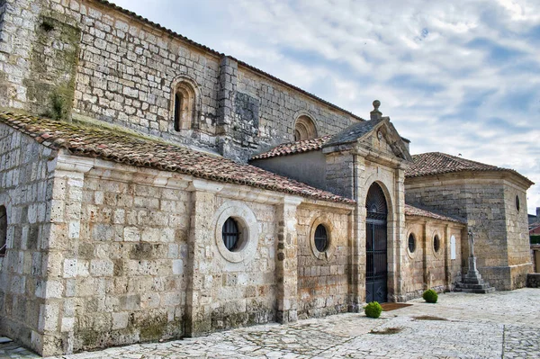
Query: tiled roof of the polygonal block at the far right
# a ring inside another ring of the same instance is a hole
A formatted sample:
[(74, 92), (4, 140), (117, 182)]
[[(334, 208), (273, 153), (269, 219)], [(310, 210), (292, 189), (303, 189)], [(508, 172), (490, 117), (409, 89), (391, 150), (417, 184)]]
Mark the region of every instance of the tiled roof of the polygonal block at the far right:
[(501, 171), (509, 172), (533, 184), (526, 176), (509, 168), (486, 165), (462, 157), (455, 157), (441, 152), (428, 152), (412, 156), (413, 164), (405, 171), (406, 177), (420, 177), (423, 175), (440, 175), (463, 171)]

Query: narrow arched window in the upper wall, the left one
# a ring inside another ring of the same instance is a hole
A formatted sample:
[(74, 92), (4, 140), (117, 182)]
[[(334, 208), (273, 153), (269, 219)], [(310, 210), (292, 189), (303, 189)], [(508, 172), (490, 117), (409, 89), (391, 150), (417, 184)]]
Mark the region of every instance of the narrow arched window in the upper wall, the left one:
[(190, 130), (195, 114), (195, 91), (193, 85), (178, 82), (173, 91), (173, 121), (175, 131)]

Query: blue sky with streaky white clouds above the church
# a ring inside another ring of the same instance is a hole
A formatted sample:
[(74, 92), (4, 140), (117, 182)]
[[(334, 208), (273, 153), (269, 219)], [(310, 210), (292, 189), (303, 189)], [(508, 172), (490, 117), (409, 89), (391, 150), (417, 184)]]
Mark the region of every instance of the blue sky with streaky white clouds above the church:
[(538, 0), (114, 0), (367, 118), (411, 153), (516, 169), (540, 206)]

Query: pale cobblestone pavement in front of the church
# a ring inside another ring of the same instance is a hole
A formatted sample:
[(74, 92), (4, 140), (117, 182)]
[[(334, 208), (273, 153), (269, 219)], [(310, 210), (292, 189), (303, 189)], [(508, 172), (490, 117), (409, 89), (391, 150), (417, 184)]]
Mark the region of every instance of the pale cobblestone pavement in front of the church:
[[(347, 313), (54, 358), (540, 358), (539, 298), (540, 290), (528, 288), (447, 293), (437, 304), (410, 301), (381, 319)], [(39, 356), (0, 344), (0, 357)]]

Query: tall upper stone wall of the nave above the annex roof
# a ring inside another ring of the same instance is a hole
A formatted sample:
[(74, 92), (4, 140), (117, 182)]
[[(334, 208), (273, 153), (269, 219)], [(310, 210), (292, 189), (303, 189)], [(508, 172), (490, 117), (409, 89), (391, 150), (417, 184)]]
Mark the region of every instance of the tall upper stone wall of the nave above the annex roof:
[[(0, 106), (90, 117), (247, 161), (293, 139), (307, 114), (319, 135), (349, 112), (95, 1), (6, 0)], [(175, 85), (193, 87), (190, 129), (175, 130)], [(73, 112), (73, 113), (72, 113)]]

